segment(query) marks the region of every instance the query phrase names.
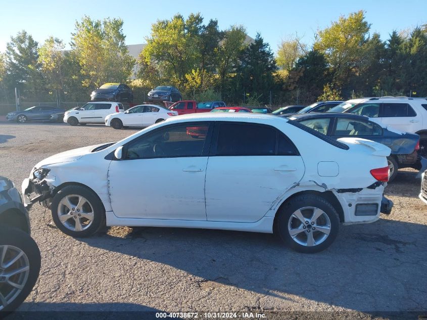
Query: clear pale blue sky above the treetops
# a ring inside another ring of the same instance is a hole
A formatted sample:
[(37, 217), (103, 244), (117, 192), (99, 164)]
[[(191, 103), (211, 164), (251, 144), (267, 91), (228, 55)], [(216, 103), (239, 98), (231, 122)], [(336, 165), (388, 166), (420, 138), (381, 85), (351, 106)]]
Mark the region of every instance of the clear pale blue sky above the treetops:
[(217, 19), (221, 29), (242, 24), (251, 37), (260, 32), (276, 52), (282, 39), (297, 33), (302, 42), (311, 44), (317, 29), (358, 10), (365, 11), (370, 33), (379, 32), (383, 40), (395, 29), (408, 30), (427, 23), (427, 0), (0, 0), (0, 52), (6, 50), (10, 36), (22, 29), (40, 44), (53, 35), (64, 40), (69, 49), (75, 21), (84, 15), (92, 19), (120, 17), (126, 44), (145, 43), (151, 25), (158, 19), (170, 19), (176, 13), (186, 17), (192, 12), (200, 12), (206, 23)]

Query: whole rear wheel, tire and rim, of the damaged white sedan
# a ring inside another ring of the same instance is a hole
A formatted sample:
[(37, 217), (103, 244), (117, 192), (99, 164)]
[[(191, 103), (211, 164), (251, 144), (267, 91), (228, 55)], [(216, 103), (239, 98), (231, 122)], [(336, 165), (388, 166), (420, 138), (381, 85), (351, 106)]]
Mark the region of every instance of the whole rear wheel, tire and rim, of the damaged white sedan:
[(277, 214), (276, 232), (283, 242), (298, 252), (320, 252), (329, 247), (338, 235), (338, 213), (321, 196), (296, 196)]

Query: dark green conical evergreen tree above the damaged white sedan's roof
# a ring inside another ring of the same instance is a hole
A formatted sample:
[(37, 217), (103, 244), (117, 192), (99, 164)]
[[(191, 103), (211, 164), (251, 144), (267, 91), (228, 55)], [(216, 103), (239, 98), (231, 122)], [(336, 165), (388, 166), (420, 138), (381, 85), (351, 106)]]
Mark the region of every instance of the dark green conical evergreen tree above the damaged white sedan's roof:
[(238, 91), (245, 89), (252, 95), (263, 95), (263, 99), (268, 101), (269, 90), (275, 84), (273, 72), (276, 69), (269, 44), (257, 33), (254, 42), (249, 44), (240, 58), (238, 69), (240, 83), (236, 89)]

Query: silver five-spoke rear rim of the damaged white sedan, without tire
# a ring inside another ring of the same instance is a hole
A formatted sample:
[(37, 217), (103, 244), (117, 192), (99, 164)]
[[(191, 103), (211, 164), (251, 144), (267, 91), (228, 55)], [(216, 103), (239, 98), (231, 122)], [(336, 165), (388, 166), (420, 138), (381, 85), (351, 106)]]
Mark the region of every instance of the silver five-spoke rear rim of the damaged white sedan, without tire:
[(288, 221), (288, 232), (298, 244), (313, 247), (324, 242), (331, 231), (328, 215), (316, 207), (296, 210)]

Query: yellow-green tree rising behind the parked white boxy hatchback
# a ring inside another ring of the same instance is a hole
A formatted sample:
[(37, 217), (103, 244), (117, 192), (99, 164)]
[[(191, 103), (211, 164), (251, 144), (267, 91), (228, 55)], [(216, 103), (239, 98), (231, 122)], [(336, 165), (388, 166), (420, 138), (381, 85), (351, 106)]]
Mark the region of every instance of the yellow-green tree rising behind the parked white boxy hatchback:
[(101, 21), (84, 16), (76, 21), (71, 47), (81, 67), (83, 86), (130, 79), (135, 59), (128, 54), (122, 19)]

